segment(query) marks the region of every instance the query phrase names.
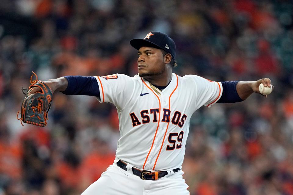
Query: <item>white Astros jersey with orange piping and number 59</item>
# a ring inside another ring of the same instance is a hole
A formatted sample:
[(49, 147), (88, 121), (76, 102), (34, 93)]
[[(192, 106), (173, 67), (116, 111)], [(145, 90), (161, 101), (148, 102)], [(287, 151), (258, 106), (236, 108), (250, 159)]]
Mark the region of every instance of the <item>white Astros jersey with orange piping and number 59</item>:
[(196, 75), (172, 80), (157, 94), (147, 80), (123, 74), (96, 76), (100, 102), (117, 107), (120, 138), (119, 159), (145, 170), (181, 168), (191, 115), (201, 106), (210, 107), (222, 95), (221, 82)]

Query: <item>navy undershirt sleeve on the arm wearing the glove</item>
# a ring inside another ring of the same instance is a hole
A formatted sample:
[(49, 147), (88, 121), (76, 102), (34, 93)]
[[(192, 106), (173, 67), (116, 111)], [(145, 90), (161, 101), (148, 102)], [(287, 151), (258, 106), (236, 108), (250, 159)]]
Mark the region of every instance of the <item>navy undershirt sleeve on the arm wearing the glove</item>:
[(64, 76), (68, 81), (66, 95), (90, 95), (100, 98), (99, 84), (94, 76)]

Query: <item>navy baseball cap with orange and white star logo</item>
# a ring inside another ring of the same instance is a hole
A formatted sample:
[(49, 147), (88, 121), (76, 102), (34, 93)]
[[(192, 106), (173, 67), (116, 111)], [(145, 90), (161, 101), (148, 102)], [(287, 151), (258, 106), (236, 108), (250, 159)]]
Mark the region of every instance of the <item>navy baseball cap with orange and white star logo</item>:
[(141, 47), (153, 47), (166, 51), (168, 54), (172, 55), (173, 60), (176, 56), (176, 45), (173, 39), (168, 37), (167, 34), (152, 31), (147, 34), (144, 39), (132, 39), (130, 41), (132, 47), (139, 50)]

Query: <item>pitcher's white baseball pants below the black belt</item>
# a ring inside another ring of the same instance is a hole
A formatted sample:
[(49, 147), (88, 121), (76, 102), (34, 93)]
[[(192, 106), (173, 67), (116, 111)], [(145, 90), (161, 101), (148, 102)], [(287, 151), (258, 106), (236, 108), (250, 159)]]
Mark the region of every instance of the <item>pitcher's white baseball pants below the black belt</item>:
[(188, 185), (182, 178), (183, 171), (166, 175), (158, 180), (143, 180), (118, 167), (110, 165), (101, 177), (90, 185), (81, 195), (189, 195)]

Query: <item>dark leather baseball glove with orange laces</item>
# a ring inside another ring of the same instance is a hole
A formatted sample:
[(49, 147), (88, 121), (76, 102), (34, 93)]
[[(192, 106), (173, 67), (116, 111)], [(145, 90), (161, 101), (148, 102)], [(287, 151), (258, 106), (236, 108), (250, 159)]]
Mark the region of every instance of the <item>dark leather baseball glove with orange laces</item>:
[[(43, 81), (38, 80), (36, 73), (32, 73), (29, 89), (22, 88), (25, 97), (20, 111), (17, 112), (17, 119), (20, 120), (21, 124), (25, 122), (44, 127), (47, 125), (48, 112), (51, 107), (52, 90)], [(33, 76), (36, 77), (35, 80), (32, 80)], [(28, 95), (34, 87), (39, 87), (41, 91)], [(18, 118), (19, 112), (21, 113), (21, 118)], [(24, 125), (22, 124), (22, 126)]]

